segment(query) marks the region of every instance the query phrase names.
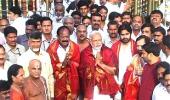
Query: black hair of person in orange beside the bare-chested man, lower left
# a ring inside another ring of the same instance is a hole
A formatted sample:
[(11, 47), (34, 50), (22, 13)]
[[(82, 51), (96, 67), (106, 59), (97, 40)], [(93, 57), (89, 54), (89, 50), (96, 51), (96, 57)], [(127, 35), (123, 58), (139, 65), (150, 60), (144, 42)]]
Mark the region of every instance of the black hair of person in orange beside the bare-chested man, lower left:
[(21, 65), (13, 64), (8, 69), (8, 82), (11, 86), (13, 83), (12, 76), (17, 76), (19, 73), (19, 69), (23, 68)]

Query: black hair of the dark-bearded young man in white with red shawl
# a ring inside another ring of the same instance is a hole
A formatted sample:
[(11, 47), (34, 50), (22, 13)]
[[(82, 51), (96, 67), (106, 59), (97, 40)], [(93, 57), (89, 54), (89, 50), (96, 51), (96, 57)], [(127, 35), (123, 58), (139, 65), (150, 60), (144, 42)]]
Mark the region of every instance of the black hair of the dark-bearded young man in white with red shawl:
[(127, 30), (130, 34), (132, 34), (132, 28), (131, 28), (130, 24), (128, 24), (128, 23), (124, 23), (124, 24), (120, 25), (118, 28), (118, 33), (120, 34), (122, 32), (122, 30)]

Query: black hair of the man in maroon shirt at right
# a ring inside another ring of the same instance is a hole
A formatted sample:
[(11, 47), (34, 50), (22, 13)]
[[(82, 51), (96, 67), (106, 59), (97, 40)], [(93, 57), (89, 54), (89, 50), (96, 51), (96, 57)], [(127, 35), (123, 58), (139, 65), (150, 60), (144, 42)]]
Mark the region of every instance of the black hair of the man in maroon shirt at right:
[(155, 56), (159, 56), (160, 55), (160, 51), (161, 49), (159, 48), (159, 46), (156, 43), (153, 42), (149, 42), (147, 44), (144, 44), (142, 46), (142, 48), (147, 52), (147, 53), (153, 53), (153, 55)]

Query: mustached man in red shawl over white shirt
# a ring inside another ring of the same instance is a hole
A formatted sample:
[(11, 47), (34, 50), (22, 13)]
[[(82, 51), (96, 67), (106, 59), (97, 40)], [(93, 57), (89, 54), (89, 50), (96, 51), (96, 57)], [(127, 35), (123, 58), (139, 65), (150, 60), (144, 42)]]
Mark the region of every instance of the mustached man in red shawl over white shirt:
[(61, 26), (58, 39), (47, 49), (54, 69), (55, 100), (77, 100), (79, 76), (77, 68), (80, 61), (79, 46), (70, 40), (70, 29)]

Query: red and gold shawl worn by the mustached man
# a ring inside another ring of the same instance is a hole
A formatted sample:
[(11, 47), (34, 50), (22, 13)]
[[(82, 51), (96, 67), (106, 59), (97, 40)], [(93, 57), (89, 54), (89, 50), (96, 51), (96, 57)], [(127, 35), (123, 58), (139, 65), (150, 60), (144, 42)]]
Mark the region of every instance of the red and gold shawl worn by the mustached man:
[(78, 94), (79, 91), (79, 77), (77, 72), (77, 67), (79, 66), (80, 61), (80, 51), (79, 46), (74, 42), (70, 41), (70, 49), (71, 58), (70, 63), (65, 66), (65, 68), (61, 68), (61, 62), (57, 56), (57, 49), (59, 47), (59, 41), (56, 40), (52, 44), (50, 44), (47, 52), (50, 55), (51, 63), (53, 66), (55, 81), (55, 92), (54, 98), (59, 99), (67, 99), (68, 86), (67, 83), (70, 84), (71, 94)]

